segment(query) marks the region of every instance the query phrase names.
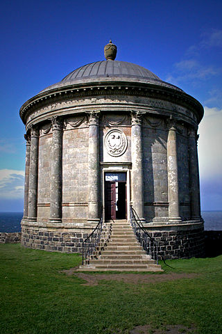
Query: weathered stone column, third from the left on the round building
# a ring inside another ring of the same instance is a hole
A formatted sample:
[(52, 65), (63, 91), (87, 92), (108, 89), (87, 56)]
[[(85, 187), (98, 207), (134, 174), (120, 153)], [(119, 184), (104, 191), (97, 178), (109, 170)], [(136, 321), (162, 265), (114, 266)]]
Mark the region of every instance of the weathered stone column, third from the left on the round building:
[(63, 121), (58, 116), (51, 119), (51, 198), (50, 218), (53, 223), (62, 221), (62, 135)]

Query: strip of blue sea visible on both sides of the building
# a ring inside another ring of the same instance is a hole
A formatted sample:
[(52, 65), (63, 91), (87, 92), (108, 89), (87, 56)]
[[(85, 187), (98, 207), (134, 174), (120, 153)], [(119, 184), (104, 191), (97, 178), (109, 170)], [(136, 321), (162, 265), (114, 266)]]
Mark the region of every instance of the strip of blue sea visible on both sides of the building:
[[(205, 230), (222, 230), (222, 211), (203, 211), (201, 215)], [(22, 216), (22, 212), (0, 212), (0, 232), (21, 232)]]

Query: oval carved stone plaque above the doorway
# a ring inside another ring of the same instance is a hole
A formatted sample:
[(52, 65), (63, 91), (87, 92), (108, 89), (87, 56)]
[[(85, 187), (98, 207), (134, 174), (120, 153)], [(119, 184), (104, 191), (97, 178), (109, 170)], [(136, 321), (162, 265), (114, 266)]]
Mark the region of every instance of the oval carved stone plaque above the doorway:
[(126, 151), (127, 138), (119, 129), (110, 130), (105, 135), (105, 148), (112, 157), (119, 157)]

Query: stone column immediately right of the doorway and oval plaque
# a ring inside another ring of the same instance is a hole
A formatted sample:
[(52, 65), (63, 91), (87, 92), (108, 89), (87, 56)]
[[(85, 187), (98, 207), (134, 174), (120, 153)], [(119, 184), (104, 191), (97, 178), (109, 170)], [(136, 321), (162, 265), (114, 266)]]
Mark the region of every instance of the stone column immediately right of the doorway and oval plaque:
[(131, 129), (132, 199), (139, 219), (144, 219), (144, 171), (142, 149), (142, 114), (132, 113)]

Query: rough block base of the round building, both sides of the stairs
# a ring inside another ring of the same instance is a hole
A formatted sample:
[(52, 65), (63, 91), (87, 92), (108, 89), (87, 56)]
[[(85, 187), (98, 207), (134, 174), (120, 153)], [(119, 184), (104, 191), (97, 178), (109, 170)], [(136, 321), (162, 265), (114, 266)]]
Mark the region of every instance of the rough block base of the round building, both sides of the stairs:
[[(205, 232), (202, 223), (187, 224), (184, 227), (174, 226), (174, 228), (167, 225), (159, 228), (153, 226), (153, 228), (146, 228), (146, 230), (157, 241), (160, 258), (161, 255), (165, 259), (203, 257), (205, 255)], [(90, 232), (92, 229), (89, 228), (75, 228), (73, 230), (51, 228), (49, 231), (41, 227), (23, 226), (22, 245), (48, 251), (82, 253), (83, 240)], [(222, 237), (222, 232), (220, 235)], [(212, 234), (210, 234), (211, 236)]]

